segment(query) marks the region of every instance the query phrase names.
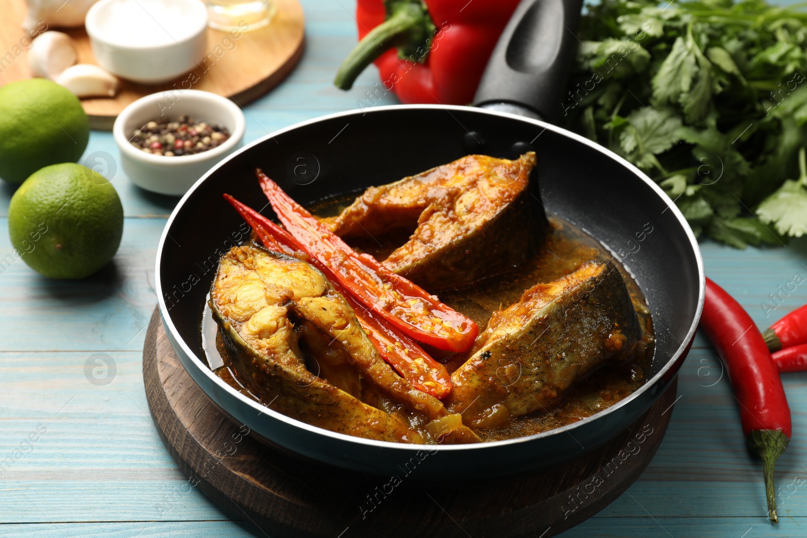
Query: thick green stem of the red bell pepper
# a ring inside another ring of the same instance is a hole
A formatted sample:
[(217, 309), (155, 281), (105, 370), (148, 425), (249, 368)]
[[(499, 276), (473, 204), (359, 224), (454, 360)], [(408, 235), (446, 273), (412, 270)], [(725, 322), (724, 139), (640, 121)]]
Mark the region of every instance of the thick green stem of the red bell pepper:
[(350, 51), (333, 80), (337, 88), (349, 90), (359, 73), (392, 47), (398, 47), (402, 57), (416, 55), (418, 61), (425, 60), (436, 27), (424, 2), (387, 0), (385, 4), (387, 20), (370, 30)]

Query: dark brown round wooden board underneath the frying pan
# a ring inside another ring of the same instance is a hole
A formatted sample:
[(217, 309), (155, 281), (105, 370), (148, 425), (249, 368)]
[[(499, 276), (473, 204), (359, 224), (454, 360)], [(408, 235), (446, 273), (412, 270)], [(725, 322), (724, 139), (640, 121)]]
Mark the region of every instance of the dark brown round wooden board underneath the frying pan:
[[(596, 514), (646, 468), (667, 431), (677, 380), (654, 407), (603, 447), (538, 473), (430, 486), (326, 467), (245, 435), (182, 367), (154, 311), (143, 352), (157, 430), (189, 477), (266, 536), (548, 538)], [(501, 465), (508, 465), (502, 461)], [(472, 478), (474, 469), (468, 469)], [(260, 534), (259, 534), (260, 536)]]

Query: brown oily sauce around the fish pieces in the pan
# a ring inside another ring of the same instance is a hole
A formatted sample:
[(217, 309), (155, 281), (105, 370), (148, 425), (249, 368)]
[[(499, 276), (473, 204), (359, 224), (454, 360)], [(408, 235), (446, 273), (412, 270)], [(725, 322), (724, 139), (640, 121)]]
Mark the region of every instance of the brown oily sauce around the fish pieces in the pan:
[[(344, 206), (352, 202), (353, 197), (354, 195), (340, 199), (333, 198), (308, 209), (320, 217), (337, 215)], [(372, 244), (352, 244), (351, 246), (383, 259), (388, 252), (391, 252), (398, 244), (403, 244), (406, 239), (406, 237), (378, 238), (379, 241), (371, 242)], [(604, 261), (606, 259), (617, 261), (585, 232), (571, 226), (570, 223), (550, 218), (550, 231), (546, 244), (533, 260), (528, 261), (513, 273), (491, 277), (460, 290), (442, 291), (439, 297), (449, 307), (474, 319), (479, 324), (479, 330), (482, 331), (494, 311), (504, 309), (516, 302), (525, 290), (537, 282), (554, 281), (572, 273), (585, 261)], [(548, 407), (546, 412), (537, 411), (531, 415), (512, 419), (506, 427), (476, 430), (481, 440), (504, 440), (529, 436), (574, 423), (619, 402), (646, 381), (646, 377), (650, 373), (654, 348), (650, 312), (647, 310), (642, 292), (636, 283), (620, 264), (616, 265), (625, 280), (625, 285), (633, 299), (633, 307), (636, 309), (642, 325), (642, 341), (637, 345), (633, 356), (629, 361), (621, 364), (606, 361), (587, 377), (575, 382), (562, 400)], [(203, 348), (211, 369), (228, 385), (249, 398), (261, 402), (261, 398), (257, 398), (238, 381), (238, 374), (229, 366), (232, 362), (229, 360), (228, 352), (224, 348), (218, 326), (213, 320), (207, 302), (205, 302), (200, 328)], [(449, 373), (462, 365), (462, 358), (455, 354), (427, 346), (424, 348), (432, 357), (443, 362)], [(261, 403), (268, 405), (270, 402)]]

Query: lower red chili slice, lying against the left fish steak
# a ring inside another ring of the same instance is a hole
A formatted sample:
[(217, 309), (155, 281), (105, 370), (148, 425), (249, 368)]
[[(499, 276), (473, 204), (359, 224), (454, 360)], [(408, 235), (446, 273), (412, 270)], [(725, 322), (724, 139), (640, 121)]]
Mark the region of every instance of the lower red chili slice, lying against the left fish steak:
[(353, 308), (356, 318), (367, 333), (370, 341), (378, 349), (378, 353), (396, 372), (412, 383), (418, 390), (432, 394), (436, 398), (445, 398), (451, 392), (451, 378), (444, 365), (435, 361), (424, 352), (416, 342), (391, 327), (387, 321), (378, 318), (357, 302), (348, 290), (343, 288), (331, 269), (307, 255), (303, 245), (288, 231), (278, 227), (270, 219), (261, 215), (251, 207), (236, 200), (229, 194), (224, 199), (236, 208), (236, 211), (255, 231), (266, 248), (282, 252), (305, 261), (309, 261), (324, 273), (335, 290), (341, 293)]

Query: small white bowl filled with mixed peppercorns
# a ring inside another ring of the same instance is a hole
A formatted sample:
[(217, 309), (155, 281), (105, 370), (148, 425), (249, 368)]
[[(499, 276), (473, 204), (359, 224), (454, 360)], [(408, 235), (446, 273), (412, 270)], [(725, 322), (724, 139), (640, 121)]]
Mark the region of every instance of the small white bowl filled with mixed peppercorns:
[(244, 113), (228, 98), (169, 90), (124, 108), (112, 134), (123, 172), (136, 186), (179, 196), (240, 147), (244, 129)]

